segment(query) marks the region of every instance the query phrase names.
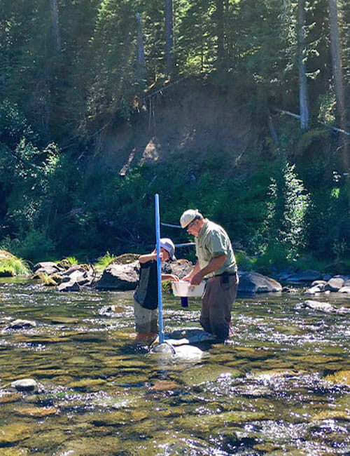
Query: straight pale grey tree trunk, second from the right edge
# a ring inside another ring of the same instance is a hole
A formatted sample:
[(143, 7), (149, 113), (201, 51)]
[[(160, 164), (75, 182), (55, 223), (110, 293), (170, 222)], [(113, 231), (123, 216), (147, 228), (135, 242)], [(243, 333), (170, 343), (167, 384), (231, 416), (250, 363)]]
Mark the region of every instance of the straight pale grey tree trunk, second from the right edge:
[(307, 131), (309, 127), (309, 98), (307, 95), (306, 65), (304, 62), (305, 49), (305, 0), (297, 2), (297, 29), (298, 29), (298, 50), (297, 50), (297, 71), (299, 74), (299, 109), (300, 128)]

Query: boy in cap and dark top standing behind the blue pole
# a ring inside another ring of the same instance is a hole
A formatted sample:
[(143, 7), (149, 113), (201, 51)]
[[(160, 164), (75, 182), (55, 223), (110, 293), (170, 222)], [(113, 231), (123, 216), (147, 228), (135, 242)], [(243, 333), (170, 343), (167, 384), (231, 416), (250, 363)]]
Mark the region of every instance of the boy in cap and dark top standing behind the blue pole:
[[(175, 246), (171, 239), (160, 239), (160, 260), (174, 260)], [(136, 340), (151, 341), (158, 334), (157, 250), (139, 257), (140, 281), (134, 293)], [(179, 281), (173, 274), (162, 274), (163, 280)]]

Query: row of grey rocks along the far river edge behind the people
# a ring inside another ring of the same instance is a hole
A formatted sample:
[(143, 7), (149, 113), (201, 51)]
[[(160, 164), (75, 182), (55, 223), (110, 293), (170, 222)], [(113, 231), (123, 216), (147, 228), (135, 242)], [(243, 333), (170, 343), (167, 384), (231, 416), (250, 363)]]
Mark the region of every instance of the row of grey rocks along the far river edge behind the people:
[[(139, 281), (138, 255), (120, 255), (103, 271), (97, 274), (91, 264), (69, 264), (62, 262), (40, 262), (34, 265), (32, 279), (43, 281), (46, 286), (55, 286), (57, 291), (79, 291), (81, 287), (94, 287), (97, 290), (134, 290)], [(175, 274), (182, 279), (193, 264), (188, 260), (176, 260), (162, 265), (162, 271)], [(332, 292), (350, 295), (350, 276), (322, 274), (307, 270), (297, 273), (279, 273), (276, 279), (255, 271), (239, 271), (239, 293), (293, 293), (307, 288), (306, 295), (327, 295)]]

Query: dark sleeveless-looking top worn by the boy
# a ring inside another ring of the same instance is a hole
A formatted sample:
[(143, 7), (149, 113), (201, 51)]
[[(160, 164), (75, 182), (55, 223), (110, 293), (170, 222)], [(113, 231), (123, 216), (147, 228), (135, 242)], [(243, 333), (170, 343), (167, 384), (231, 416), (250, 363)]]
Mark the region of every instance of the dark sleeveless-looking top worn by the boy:
[(157, 262), (152, 260), (146, 263), (140, 263), (140, 267), (140, 281), (134, 293), (134, 300), (145, 309), (157, 309)]

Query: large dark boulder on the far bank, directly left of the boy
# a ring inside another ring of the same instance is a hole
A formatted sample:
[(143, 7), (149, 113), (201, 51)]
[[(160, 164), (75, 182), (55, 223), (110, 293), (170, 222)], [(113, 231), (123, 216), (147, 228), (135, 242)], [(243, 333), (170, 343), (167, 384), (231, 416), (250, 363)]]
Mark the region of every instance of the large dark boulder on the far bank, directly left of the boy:
[(129, 264), (109, 264), (101, 279), (97, 281), (97, 290), (134, 290), (139, 283), (139, 261)]

